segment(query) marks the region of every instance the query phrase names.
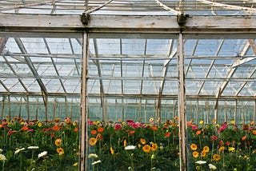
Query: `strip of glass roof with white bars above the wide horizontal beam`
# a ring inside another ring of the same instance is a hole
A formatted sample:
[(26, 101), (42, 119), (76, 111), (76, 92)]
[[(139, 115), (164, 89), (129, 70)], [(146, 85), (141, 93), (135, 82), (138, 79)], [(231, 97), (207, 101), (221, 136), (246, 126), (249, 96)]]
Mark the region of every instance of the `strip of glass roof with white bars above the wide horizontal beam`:
[(254, 4), (255, 0), (2, 0), (0, 13), (255, 15)]

